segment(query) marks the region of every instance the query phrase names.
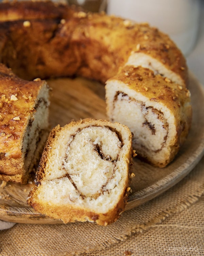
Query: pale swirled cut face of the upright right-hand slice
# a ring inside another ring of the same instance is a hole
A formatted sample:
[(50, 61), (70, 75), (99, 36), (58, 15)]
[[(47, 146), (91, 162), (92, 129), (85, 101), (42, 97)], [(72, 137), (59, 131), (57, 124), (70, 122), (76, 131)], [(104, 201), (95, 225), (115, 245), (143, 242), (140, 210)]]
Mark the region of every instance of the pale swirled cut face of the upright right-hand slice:
[(170, 110), (117, 80), (107, 82), (106, 96), (108, 116), (112, 122), (125, 124), (134, 133), (136, 152), (156, 165), (168, 159), (176, 134)]

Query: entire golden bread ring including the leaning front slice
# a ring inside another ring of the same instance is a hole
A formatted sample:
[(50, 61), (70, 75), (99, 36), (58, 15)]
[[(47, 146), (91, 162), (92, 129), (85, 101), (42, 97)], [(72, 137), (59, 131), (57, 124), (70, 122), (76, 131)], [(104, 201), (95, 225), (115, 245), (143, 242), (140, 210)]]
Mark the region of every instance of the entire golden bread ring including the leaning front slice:
[[(106, 83), (107, 116), (123, 124), (85, 119), (50, 132), (28, 203), (65, 223), (115, 222), (134, 176), (132, 142), (141, 158), (165, 167), (188, 135), (185, 58), (148, 24), (51, 1), (0, 3), (0, 62), (0, 179), (26, 183), (45, 144), (49, 87), (41, 79), (81, 75)], [(87, 154), (92, 169), (85, 162), (83, 171), (73, 155)]]

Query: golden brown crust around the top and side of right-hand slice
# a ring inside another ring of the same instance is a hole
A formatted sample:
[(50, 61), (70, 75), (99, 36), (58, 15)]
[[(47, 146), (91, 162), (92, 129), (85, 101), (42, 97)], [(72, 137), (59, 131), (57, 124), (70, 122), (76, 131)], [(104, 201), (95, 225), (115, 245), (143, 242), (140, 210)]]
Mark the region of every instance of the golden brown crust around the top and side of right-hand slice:
[[(173, 83), (167, 77), (160, 74), (155, 75), (152, 70), (142, 67), (125, 66), (107, 82), (109, 81), (123, 83), (131, 90), (149, 99), (150, 102), (158, 102), (170, 111), (174, 117), (176, 132), (169, 156), (160, 162), (153, 161), (149, 157), (145, 159), (157, 167), (167, 166), (174, 159), (190, 130), (192, 108), (189, 90), (184, 85)], [(139, 151), (137, 153), (142, 157)]]

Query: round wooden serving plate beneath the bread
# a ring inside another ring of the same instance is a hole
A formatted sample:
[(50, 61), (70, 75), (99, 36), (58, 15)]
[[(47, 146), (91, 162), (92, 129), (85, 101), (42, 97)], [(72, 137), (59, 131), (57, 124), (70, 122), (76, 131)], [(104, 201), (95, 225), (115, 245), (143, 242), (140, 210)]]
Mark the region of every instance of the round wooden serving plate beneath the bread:
[[(64, 126), (71, 119), (92, 117), (107, 119), (104, 85), (83, 78), (62, 78), (48, 81), (52, 88), (50, 106), (51, 128)], [(186, 143), (174, 161), (165, 168), (155, 168), (134, 158), (132, 194), (126, 210), (151, 200), (183, 179), (204, 155), (204, 88), (190, 74), (193, 119)], [(5, 185), (5, 186), (4, 186)], [(34, 185), (2, 183), (0, 187), (0, 219), (17, 223), (56, 224), (57, 219), (37, 213), (28, 206), (27, 195)]]

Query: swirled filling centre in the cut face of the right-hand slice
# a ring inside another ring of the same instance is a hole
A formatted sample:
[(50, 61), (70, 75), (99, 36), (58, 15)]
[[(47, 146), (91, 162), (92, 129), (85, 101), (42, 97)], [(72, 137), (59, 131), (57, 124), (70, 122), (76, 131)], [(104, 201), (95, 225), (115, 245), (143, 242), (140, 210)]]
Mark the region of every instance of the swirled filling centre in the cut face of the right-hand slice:
[[(125, 115), (130, 113), (130, 110), (125, 111), (125, 108), (130, 109), (130, 105), (134, 115), (125, 118), (122, 113), (126, 113)], [(158, 153), (163, 149), (168, 137), (169, 124), (161, 111), (152, 106), (146, 106), (145, 102), (136, 100), (121, 91), (116, 91), (113, 116), (114, 114), (118, 122), (127, 125), (134, 133), (133, 143), (139, 145), (142, 151)], [(135, 123), (137, 125), (134, 125)]]

